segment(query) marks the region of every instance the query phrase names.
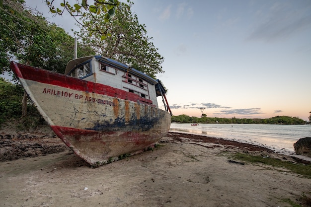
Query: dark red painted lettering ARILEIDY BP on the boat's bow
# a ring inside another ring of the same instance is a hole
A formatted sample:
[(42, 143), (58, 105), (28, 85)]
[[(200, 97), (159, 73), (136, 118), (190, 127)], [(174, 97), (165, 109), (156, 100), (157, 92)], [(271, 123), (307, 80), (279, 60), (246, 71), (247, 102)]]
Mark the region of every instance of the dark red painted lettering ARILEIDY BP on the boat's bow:
[[(66, 91), (60, 91), (60, 90), (49, 89), (49, 88), (44, 88), (42, 93), (51, 94), (51, 95), (55, 95), (55, 96), (64, 96), (64, 97), (69, 97), (69, 98), (73, 97), (75, 99), (82, 99), (83, 98), (83, 95), (79, 95), (79, 94), (74, 95), (74, 93), (69, 93)], [(85, 96), (84, 101), (97, 102), (98, 104), (105, 104), (105, 105), (114, 106), (113, 101), (102, 100), (99, 98), (92, 98), (89, 96)]]

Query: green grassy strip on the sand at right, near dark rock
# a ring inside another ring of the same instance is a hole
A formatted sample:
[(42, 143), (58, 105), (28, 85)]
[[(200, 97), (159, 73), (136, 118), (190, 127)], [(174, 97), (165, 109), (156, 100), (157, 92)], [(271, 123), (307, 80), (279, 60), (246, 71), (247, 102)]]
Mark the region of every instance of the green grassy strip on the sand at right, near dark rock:
[(311, 165), (296, 164), (289, 161), (283, 161), (275, 158), (263, 158), (262, 156), (252, 156), (249, 154), (236, 153), (234, 159), (255, 164), (265, 164), (273, 167), (281, 167), (290, 170), (291, 172), (303, 175), (306, 178), (311, 178)]

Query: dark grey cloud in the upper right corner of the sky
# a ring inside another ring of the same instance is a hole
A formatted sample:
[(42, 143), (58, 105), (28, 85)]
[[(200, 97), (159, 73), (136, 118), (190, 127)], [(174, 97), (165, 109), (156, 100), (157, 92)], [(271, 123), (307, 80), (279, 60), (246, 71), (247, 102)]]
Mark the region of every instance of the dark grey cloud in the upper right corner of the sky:
[(259, 19), (262, 21), (250, 33), (247, 40), (277, 40), (311, 27), (310, 6), (309, 9), (303, 6), (291, 9), (291, 6), (275, 3), (266, 9), (267, 13), (259, 12)]

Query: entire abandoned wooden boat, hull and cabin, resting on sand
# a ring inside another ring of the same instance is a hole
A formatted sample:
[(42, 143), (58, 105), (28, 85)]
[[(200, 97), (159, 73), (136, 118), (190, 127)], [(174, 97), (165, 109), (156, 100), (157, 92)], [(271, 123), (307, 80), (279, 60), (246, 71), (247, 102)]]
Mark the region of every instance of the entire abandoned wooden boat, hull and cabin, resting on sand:
[(55, 134), (92, 167), (153, 147), (169, 130), (161, 82), (111, 59), (74, 59), (65, 74), (15, 62), (10, 68)]

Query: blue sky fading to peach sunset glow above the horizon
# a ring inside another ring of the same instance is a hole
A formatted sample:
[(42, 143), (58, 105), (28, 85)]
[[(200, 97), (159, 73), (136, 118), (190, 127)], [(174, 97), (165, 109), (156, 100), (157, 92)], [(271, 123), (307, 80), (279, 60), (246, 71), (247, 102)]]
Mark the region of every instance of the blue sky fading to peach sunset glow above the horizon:
[[(75, 0), (69, 0), (75, 1)], [(91, 4), (91, 0), (88, 0)], [(311, 112), (311, 0), (133, 0), (164, 57), (173, 115), (270, 118)], [(65, 14), (26, 0), (73, 35)], [(161, 104), (161, 103), (159, 103)]]

